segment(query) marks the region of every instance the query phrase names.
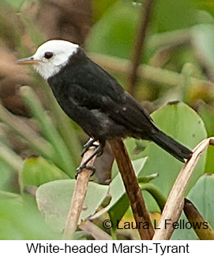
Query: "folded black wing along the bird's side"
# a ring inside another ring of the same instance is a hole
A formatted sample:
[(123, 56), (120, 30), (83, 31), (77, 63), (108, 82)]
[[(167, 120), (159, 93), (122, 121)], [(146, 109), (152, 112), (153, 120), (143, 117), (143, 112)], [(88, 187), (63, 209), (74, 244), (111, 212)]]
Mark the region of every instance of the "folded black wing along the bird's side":
[(71, 72), (73, 78), (70, 79), (69, 95), (78, 105), (98, 109), (117, 124), (137, 131), (156, 128), (145, 109), (91, 59), (76, 63)]

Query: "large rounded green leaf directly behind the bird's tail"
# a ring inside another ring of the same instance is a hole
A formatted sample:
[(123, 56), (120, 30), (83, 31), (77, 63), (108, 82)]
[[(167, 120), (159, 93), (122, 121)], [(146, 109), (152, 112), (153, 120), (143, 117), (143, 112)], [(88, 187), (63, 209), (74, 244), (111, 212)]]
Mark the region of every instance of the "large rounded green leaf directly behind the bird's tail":
[[(201, 117), (197, 115), (193, 109), (183, 103), (165, 105), (161, 109), (152, 113), (152, 119), (158, 128), (172, 136), (178, 142), (193, 149), (207, 134), (205, 125)], [(144, 169), (141, 170), (141, 176), (158, 173), (152, 183), (155, 184), (167, 197), (171, 190), (178, 172), (182, 169), (183, 163), (179, 162), (173, 156), (163, 151), (155, 143), (149, 143), (145, 149), (145, 155), (148, 161), (145, 163)], [(198, 178), (204, 173), (205, 154), (201, 155), (197, 167), (194, 170), (193, 177), (190, 180), (186, 193), (190, 191)], [(150, 204), (150, 198), (146, 198), (149, 211), (158, 211), (156, 205)]]

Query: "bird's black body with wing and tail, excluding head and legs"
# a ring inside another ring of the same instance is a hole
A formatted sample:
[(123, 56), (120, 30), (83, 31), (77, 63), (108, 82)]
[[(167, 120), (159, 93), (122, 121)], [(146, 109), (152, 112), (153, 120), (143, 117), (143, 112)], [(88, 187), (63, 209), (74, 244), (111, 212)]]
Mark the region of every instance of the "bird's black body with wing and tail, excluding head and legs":
[(190, 158), (192, 152), (161, 132), (145, 109), (81, 48), (47, 82), (67, 115), (100, 143), (131, 136), (154, 141), (182, 162)]

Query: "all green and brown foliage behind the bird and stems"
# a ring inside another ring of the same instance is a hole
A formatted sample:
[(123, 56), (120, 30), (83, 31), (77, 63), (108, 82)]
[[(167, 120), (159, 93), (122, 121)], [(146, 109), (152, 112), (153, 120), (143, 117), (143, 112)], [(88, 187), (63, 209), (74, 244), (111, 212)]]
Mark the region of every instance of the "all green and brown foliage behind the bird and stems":
[[(32, 55), (44, 40), (71, 40), (129, 89), (129, 70), (123, 67), (133, 54), (142, 5), (144, 1), (130, 0), (1, 1), (0, 239), (61, 239), (73, 177), (88, 139), (58, 107), (47, 83), (31, 69), (17, 67), (15, 60)], [(156, 0), (133, 88), (157, 126), (190, 148), (214, 135), (213, 15), (212, 0)], [(166, 105), (168, 101), (184, 103)], [(182, 163), (153, 143), (126, 139), (126, 146), (152, 220), (158, 220), (160, 199), (167, 197)], [(186, 191), (212, 228), (213, 199), (208, 195), (213, 177), (203, 174), (214, 172), (213, 153), (210, 147), (201, 156)], [(109, 170), (103, 173), (105, 179), (111, 177)], [(145, 178), (156, 173), (156, 178)], [(93, 221), (100, 228), (103, 218), (133, 221), (116, 166), (112, 178), (110, 185), (101, 185), (95, 177), (85, 201), (88, 211), (81, 216), (99, 209)], [(111, 199), (105, 198), (107, 191)], [(114, 239), (138, 238), (134, 230), (103, 232)], [(76, 238), (92, 236), (77, 231)], [(197, 236), (192, 230), (175, 231), (173, 239)]]

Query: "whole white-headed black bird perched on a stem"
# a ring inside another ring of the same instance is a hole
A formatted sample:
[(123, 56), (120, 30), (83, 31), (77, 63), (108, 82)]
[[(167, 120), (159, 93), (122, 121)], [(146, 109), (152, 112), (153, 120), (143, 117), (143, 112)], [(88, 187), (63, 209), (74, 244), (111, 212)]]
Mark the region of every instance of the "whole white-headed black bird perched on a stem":
[(192, 151), (162, 132), (146, 109), (78, 44), (47, 40), (34, 55), (17, 63), (32, 64), (47, 80), (63, 111), (92, 138), (84, 145), (83, 154), (99, 142), (77, 173), (95, 155), (102, 154), (107, 140), (126, 137), (153, 141), (181, 162), (190, 159)]

